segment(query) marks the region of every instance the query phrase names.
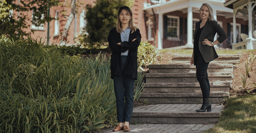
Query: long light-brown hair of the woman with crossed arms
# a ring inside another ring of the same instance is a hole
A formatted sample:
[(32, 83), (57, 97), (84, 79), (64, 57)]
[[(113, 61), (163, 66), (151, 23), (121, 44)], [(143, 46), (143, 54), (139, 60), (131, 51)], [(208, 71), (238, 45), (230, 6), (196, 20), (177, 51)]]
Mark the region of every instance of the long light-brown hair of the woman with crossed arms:
[(121, 32), (122, 32), (122, 25), (121, 25), (121, 21), (120, 21), (120, 19), (119, 19), (119, 14), (121, 13), (122, 10), (126, 10), (127, 13), (131, 16), (131, 19), (130, 19), (130, 21), (129, 21), (129, 27), (130, 27), (130, 29), (131, 29), (131, 31), (132, 31), (131, 33), (133, 33), (134, 31), (136, 31), (137, 27), (135, 27), (135, 26), (133, 25), (132, 10), (131, 10), (129, 7), (127, 7), (127, 6), (122, 6), (122, 7), (120, 7), (119, 10), (118, 10), (117, 23), (116, 23), (116, 32), (118, 32), (118, 33), (120, 33), (120, 34), (121, 34)]

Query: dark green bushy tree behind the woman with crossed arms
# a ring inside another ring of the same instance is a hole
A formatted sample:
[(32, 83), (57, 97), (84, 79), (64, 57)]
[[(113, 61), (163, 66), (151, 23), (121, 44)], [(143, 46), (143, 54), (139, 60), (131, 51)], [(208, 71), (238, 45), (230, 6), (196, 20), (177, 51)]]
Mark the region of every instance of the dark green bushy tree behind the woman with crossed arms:
[(134, 0), (97, 0), (94, 6), (86, 5), (86, 28), (80, 38), (81, 43), (89, 45), (107, 42), (108, 33), (116, 26), (118, 9), (121, 6), (131, 7)]

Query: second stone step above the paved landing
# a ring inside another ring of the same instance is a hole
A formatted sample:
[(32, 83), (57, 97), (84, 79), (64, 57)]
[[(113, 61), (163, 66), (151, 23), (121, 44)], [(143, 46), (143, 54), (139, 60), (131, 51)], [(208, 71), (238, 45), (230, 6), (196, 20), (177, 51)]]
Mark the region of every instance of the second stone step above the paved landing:
[[(210, 92), (229, 92), (231, 82), (210, 83)], [(143, 93), (201, 93), (199, 83), (144, 83)]]

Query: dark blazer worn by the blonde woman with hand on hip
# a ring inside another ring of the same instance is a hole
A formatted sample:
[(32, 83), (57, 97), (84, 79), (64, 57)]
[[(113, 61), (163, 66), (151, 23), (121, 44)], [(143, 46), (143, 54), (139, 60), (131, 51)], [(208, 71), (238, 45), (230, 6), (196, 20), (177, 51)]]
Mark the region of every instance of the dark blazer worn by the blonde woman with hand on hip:
[[(196, 23), (196, 31), (195, 31), (194, 36), (196, 36), (196, 32), (200, 25), (200, 22), (201, 22), (201, 20)], [(217, 57), (219, 57), (214, 49), (214, 46), (203, 45), (203, 43), (202, 43), (203, 39), (208, 39), (209, 41), (213, 42), (216, 32), (219, 35), (217, 40), (220, 43), (222, 43), (225, 39), (227, 39), (227, 35), (226, 35), (225, 31), (220, 27), (220, 25), (216, 21), (207, 20), (204, 25), (204, 28), (201, 32), (201, 35), (199, 37), (199, 44), (198, 44), (199, 50), (200, 50), (205, 62), (210, 62), (210, 61), (216, 59)], [(195, 40), (194, 40), (194, 45), (196, 45)]]

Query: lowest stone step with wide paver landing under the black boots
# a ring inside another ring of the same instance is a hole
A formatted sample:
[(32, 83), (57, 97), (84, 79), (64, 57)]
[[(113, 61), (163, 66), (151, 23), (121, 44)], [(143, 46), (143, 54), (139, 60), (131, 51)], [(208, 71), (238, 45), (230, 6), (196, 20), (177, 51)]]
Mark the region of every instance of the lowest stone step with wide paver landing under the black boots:
[(133, 109), (131, 123), (207, 124), (216, 123), (222, 104), (211, 104), (211, 112), (196, 112), (201, 104), (157, 104)]

